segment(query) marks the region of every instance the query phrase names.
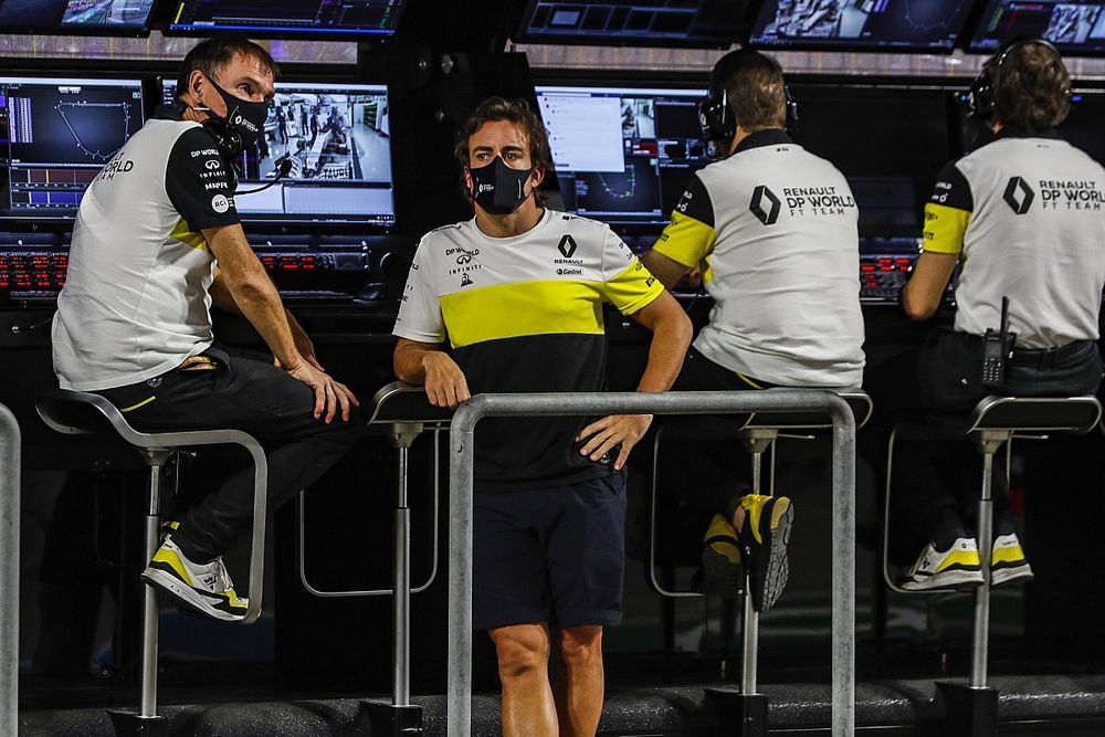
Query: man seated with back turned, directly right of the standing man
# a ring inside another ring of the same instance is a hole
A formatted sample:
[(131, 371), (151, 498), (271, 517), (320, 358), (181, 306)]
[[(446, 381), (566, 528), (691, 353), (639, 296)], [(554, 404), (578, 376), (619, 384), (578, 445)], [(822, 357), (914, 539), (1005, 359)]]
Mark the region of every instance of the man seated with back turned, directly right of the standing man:
[[(714, 66), (703, 135), (723, 160), (692, 177), (643, 256), (669, 288), (704, 264), (714, 297), (676, 390), (860, 385), (855, 200), (835, 167), (787, 135), (791, 105), (782, 70), (769, 56), (740, 50)], [(724, 516), (714, 516), (705, 536), (704, 588), (732, 593), (743, 550), (753, 606), (766, 611), (786, 585), (793, 508), (787, 497), (736, 492), (745, 467), (728, 465), (709, 484), (706, 504)]]

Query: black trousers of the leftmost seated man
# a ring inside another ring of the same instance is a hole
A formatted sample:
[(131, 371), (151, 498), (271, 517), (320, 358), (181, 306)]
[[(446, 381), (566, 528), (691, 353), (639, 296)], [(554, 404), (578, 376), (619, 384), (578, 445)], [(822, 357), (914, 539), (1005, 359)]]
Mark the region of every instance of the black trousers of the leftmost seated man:
[[(173, 369), (98, 393), (123, 410), (137, 430), (252, 434), (269, 462), (271, 510), (311, 485), (356, 442), (359, 415), (349, 422), (337, 417), (329, 424), (316, 420), (314, 392), (273, 366), (271, 358), (222, 346), (212, 346), (206, 355), (214, 370)], [(248, 465), (183, 515), (173, 540), (189, 559), (206, 562), (231, 548), (252, 518), (253, 467)]]

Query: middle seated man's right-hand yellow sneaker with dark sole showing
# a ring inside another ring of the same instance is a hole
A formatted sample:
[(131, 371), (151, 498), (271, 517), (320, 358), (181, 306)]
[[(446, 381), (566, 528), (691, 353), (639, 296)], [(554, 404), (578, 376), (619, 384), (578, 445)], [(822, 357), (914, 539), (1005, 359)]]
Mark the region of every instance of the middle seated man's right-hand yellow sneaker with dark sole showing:
[(739, 507), (745, 510), (739, 538), (748, 567), (748, 593), (753, 608), (766, 612), (787, 586), (790, 572), (787, 544), (794, 522), (794, 507), (786, 496), (762, 494), (746, 494)]

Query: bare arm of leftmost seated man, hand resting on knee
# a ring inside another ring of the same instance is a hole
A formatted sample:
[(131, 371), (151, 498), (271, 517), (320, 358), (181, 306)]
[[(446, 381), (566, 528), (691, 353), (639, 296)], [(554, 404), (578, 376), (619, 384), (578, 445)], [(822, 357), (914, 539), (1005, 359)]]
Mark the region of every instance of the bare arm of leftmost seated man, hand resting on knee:
[(348, 420), (350, 404), (358, 404), (356, 396), (307, 361), (296, 347), (276, 287), (250, 249), (242, 227), (208, 228), (203, 230), (203, 238), (219, 261), (219, 278), (215, 280), (219, 285), (212, 285), (212, 301), (220, 306), (232, 305), (232, 312), (250, 320), (288, 376), (312, 388), (316, 418), (325, 412), (326, 422), (329, 422), (340, 410), (341, 419)]

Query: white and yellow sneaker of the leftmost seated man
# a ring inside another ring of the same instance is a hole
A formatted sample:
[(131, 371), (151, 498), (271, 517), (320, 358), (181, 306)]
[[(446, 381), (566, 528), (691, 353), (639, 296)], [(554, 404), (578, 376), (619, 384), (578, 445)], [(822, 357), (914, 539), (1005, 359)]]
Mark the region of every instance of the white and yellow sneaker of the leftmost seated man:
[(234, 593), (234, 582), (221, 556), (209, 564), (192, 562), (171, 536), (154, 554), (141, 577), (146, 583), (168, 591), (189, 609), (224, 622), (241, 621), (250, 606), (248, 599)]

